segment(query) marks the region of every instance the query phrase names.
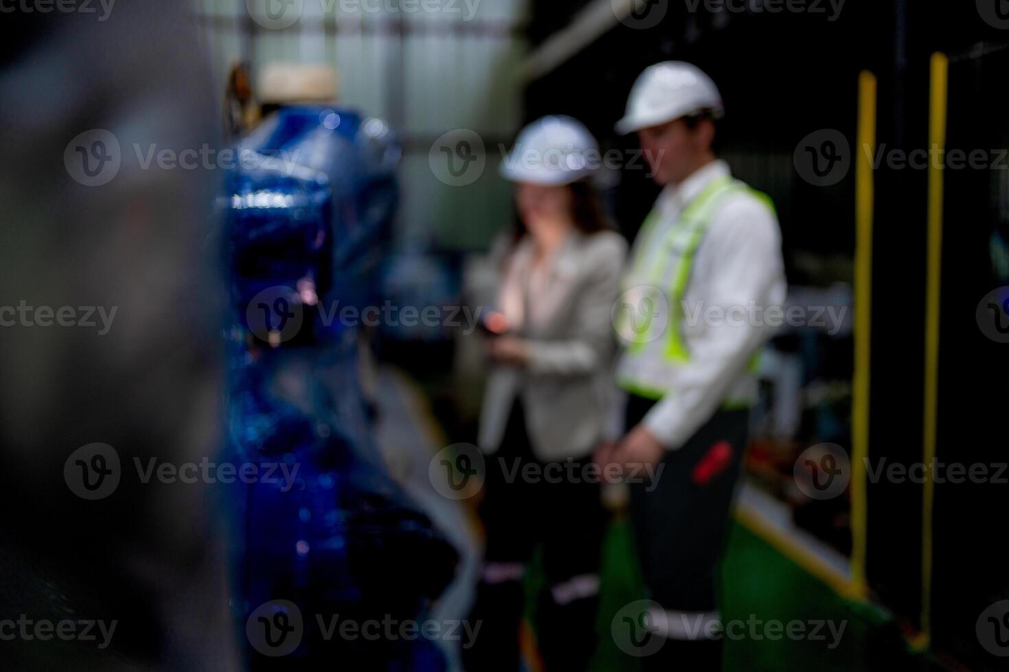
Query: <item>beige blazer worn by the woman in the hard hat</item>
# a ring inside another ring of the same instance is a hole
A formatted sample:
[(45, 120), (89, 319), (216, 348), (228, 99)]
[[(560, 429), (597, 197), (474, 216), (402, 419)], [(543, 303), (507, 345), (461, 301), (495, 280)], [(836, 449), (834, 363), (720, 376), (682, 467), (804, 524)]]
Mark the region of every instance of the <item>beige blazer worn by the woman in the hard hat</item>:
[(533, 452), (543, 460), (589, 454), (602, 438), (613, 390), (613, 301), (628, 246), (619, 234), (572, 232), (548, 262), (532, 303), (533, 242), (527, 236), (506, 262), (498, 305), (512, 333), (530, 343), (528, 367), (495, 366), (487, 380), (478, 442), (500, 445), (516, 395), (521, 395)]

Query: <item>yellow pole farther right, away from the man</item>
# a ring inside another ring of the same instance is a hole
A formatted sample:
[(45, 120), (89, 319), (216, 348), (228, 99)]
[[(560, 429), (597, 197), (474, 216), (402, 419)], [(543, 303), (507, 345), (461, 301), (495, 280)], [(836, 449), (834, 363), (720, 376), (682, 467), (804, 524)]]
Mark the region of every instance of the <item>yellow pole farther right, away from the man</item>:
[(924, 644), (931, 638), (932, 601), (932, 502), (935, 484), (930, 465), (935, 459), (938, 413), (939, 299), (942, 271), (942, 158), (945, 155), (946, 90), (949, 59), (935, 52), (931, 57), (928, 105), (928, 250), (925, 275), (925, 483), (921, 507), (921, 633)]

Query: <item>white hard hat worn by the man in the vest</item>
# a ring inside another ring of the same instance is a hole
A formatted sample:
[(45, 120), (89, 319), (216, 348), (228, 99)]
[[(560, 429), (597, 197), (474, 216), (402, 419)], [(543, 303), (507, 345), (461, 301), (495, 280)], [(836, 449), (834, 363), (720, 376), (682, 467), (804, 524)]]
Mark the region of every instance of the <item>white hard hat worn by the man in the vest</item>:
[(647, 69), (635, 82), (616, 132), (634, 133), (699, 112), (721, 116), (718, 88), (696, 65), (667, 60)]

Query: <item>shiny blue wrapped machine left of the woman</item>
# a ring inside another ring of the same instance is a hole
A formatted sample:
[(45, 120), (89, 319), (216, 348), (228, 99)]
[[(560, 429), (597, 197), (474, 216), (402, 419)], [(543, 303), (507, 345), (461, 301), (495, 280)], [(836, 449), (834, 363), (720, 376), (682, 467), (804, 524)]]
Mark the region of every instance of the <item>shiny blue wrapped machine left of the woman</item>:
[[(336, 615), (422, 620), (457, 560), (377, 458), (354, 327), (319, 309), (378, 298), (399, 148), (379, 120), (309, 106), (274, 114), (241, 152), (224, 244), (228, 453), (273, 475), (229, 491), (233, 603), (249, 666), (443, 669), (423, 638), (347, 639), (321, 627)], [(256, 640), (263, 609), (278, 624), (298, 612), (296, 644)]]

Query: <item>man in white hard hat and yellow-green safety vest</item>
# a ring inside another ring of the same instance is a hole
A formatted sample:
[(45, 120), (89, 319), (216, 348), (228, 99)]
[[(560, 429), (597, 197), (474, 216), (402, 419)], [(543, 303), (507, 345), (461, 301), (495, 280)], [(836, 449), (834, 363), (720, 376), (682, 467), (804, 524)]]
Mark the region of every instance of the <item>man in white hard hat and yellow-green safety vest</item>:
[(715, 571), (757, 398), (753, 364), (770, 335), (762, 324), (785, 296), (773, 206), (733, 179), (712, 148), (721, 114), (714, 83), (670, 61), (639, 78), (616, 126), (638, 133), (665, 187), (638, 235), (618, 306), (627, 433), (600, 455), (665, 464), (657, 485), (631, 488), (655, 602), (644, 627), (663, 638), (646, 668), (720, 669)]

